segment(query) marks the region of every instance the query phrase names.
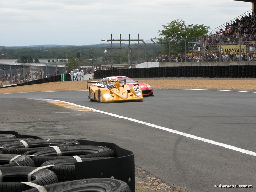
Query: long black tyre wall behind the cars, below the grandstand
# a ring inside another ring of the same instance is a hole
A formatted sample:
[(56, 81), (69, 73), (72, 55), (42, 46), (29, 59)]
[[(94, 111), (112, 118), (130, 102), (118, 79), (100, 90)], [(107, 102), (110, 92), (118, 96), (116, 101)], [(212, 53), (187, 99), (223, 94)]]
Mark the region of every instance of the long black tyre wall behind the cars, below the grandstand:
[(256, 78), (256, 65), (176, 66), (99, 70), (94, 72), (95, 78), (114, 75), (128, 76), (130, 78)]

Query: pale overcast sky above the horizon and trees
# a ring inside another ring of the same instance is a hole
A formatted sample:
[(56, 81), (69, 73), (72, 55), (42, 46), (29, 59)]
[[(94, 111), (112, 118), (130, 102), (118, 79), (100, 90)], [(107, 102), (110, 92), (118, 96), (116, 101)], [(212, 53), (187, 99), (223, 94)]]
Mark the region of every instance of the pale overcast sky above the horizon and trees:
[(92, 45), (101, 39), (160, 38), (173, 20), (212, 29), (252, 9), (233, 0), (7, 0), (0, 5), (0, 46)]

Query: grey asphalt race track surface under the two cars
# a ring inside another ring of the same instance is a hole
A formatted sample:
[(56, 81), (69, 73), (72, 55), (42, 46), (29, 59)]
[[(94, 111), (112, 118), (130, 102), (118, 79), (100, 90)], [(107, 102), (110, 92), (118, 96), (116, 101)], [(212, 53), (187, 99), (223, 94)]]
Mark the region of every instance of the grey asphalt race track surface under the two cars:
[[(256, 191), (255, 91), (155, 89), (140, 102), (108, 104), (87, 95), (0, 94), (0, 130), (116, 143), (134, 152), (135, 165), (182, 191)], [(72, 103), (80, 110), (65, 106)]]

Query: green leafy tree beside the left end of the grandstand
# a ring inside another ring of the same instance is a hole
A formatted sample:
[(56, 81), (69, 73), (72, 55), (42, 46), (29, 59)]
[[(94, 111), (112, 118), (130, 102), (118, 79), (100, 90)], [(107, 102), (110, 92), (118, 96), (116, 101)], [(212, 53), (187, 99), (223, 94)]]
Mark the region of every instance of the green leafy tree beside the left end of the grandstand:
[[(168, 25), (163, 25), (162, 30), (158, 30), (158, 34), (161, 37), (158, 40), (158, 43), (161, 44), (165, 48), (165, 54), (169, 52), (168, 50), (168, 39), (170, 41), (171, 46), (171, 54), (177, 55), (178, 53), (184, 52), (184, 41), (182, 37), (186, 39), (187, 43), (192, 41), (193, 39), (202, 36), (208, 32), (210, 27), (202, 25), (187, 25), (183, 20), (173, 20)], [(188, 48), (188, 46), (187, 46)]]

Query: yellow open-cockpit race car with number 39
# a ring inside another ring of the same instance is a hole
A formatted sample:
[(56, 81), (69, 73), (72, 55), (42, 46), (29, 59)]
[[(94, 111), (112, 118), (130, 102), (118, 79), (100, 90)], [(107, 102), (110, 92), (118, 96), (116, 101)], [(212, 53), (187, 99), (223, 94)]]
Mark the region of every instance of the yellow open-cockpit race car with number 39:
[[(107, 81), (87, 81), (87, 89), (89, 84), (94, 84), (94, 86), (89, 87), (89, 100), (90, 101), (100, 101), (100, 103), (108, 103), (114, 101), (142, 101), (142, 89), (140, 86), (130, 87), (124, 84), (122, 86), (119, 84), (119, 80), (116, 79), (114, 84), (111, 80)], [(95, 83), (99, 86), (95, 86)], [(101, 85), (105, 85), (102, 87)]]

